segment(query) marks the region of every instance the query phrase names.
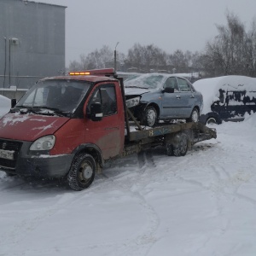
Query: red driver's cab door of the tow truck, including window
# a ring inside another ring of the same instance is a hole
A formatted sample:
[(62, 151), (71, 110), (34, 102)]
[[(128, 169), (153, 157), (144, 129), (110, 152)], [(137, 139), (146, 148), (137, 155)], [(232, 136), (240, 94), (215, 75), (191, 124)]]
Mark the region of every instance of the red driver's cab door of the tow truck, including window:
[(90, 94), (86, 113), (95, 102), (102, 104), (103, 117), (100, 121), (85, 118), (85, 143), (99, 147), (107, 160), (120, 154), (124, 147), (124, 113), (118, 108), (115, 84), (98, 85)]

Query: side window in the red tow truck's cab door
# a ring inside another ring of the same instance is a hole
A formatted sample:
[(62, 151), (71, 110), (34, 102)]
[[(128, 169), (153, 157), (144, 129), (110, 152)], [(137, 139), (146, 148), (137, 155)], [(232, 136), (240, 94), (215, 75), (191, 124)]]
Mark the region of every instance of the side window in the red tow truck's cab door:
[(88, 104), (88, 111), (90, 111), (90, 105), (96, 102), (102, 104), (103, 116), (117, 113), (117, 100), (114, 86), (111, 84), (103, 85), (97, 89), (90, 99)]

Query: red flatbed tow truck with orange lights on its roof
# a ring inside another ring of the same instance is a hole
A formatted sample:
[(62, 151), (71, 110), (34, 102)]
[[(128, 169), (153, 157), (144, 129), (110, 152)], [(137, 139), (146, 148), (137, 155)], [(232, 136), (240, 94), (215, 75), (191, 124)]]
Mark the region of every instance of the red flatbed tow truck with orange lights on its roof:
[(0, 171), (67, 178), (71, 189), (82, 190), (109, 160), (155, 146), (185, 155), (216, 137), (200, 123), (142, 127), (112, 68), (74, 72), (39, 80), (0, 120)]

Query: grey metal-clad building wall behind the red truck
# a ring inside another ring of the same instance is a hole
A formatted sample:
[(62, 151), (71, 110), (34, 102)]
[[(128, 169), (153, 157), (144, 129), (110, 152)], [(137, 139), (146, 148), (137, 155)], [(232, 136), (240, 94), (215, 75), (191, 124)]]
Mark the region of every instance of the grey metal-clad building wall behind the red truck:
[(0, 0), (0, 88), (28, 89), (65, 70), (65, 9)]

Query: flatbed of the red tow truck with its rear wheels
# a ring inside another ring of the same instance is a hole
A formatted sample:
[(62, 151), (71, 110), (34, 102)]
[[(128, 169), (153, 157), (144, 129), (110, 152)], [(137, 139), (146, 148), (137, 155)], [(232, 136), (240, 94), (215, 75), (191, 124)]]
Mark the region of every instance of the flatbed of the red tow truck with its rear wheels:
[(195, 143), (216, 137), (215, 129), (194, 122), (160, 124), (154, 128), (129, 125), (123, 156), (156, 146), (166, 147), (168, 155), (185, 155)]

